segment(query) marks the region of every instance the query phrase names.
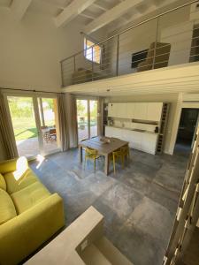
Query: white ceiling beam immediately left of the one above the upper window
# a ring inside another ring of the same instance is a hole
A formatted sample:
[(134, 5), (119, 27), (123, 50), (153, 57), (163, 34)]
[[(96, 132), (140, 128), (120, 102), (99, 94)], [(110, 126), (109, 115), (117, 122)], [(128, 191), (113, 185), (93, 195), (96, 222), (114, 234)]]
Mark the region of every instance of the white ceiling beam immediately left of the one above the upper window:
[(88, 8), (96, 0), (74, 0), (71, 4), (57, 15), (55, 23), (57, 27), (64, 27), (68, 22), (77, 17), (82, 11)]

